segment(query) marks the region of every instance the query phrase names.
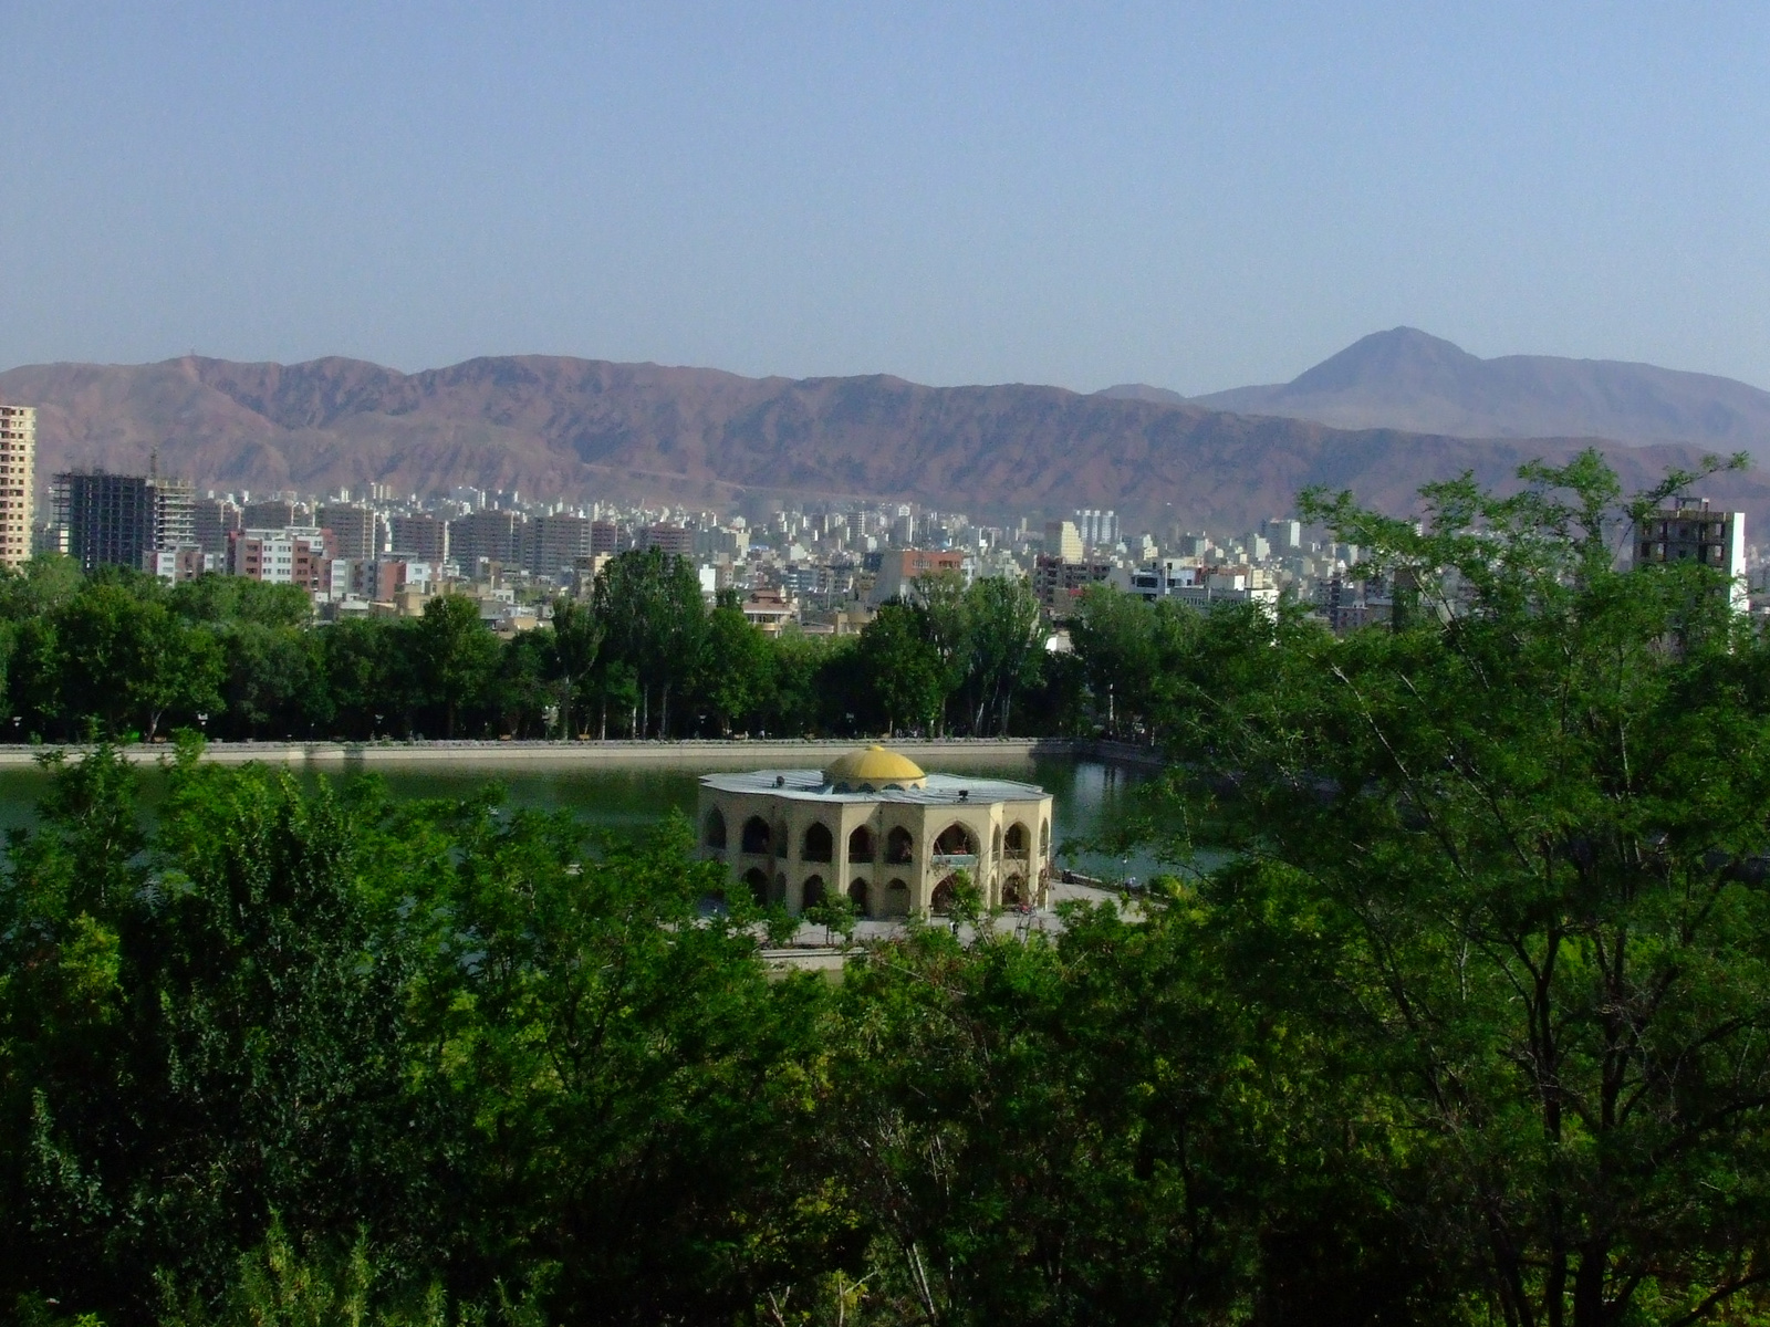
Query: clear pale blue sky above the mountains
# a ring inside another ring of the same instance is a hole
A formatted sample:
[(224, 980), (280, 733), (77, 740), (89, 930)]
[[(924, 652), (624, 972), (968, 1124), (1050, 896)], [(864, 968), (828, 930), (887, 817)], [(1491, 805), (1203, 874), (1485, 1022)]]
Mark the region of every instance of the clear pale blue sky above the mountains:
[(1770, 387), (1770, 5), (0, 0), (0, 368)]

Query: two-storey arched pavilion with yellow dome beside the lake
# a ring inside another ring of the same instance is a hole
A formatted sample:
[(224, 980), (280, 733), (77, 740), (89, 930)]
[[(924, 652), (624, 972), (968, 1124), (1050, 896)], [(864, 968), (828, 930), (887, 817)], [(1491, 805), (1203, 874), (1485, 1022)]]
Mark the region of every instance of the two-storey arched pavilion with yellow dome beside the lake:
[(699, 833), (731, 888), (793, 915), (837, 892), (860, 917), (943, 915), (959, 872), (988, 908), (1041, 906), (1051, 878), (1050, 793), (929, 775), (883, 747), (825, 770), (706, 775)]

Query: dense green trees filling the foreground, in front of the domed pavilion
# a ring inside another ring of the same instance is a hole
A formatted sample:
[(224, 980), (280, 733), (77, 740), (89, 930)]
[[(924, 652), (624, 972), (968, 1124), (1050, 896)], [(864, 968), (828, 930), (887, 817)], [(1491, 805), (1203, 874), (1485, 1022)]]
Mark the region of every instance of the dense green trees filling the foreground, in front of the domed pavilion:
[(1048, 932), (966, 897), (835, 984), (766, 968), (681, 823), (195, 741), (149, 817), (113, 748), (50, 757), (0, 885), (0, 1304), (1770, 1323), (1770, 644), (1713, 571), (1616, 570), (1660, 492), (1520, 479), (1420, 525), (1306, 495), (1412, 587), (1382, 626), (1092, 596), (1080, 687), (1166, 747), (1124, 832), (1175, 874)]

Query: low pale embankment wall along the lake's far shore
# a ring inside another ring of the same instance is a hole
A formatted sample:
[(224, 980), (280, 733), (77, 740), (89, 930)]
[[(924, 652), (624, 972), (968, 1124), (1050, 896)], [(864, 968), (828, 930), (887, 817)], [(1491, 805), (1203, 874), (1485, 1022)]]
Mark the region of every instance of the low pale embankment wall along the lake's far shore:
[[(214, 741), (204, 748), (205, 761), (219, 764), (310, 766), (315, 770), (366, 770), (391, 766), (471, 766), (471, 768), (582, 768), (582, 770), (818, 770), (851, 752), (866, 740), (835, 741)], [(890, 741), (917, 764), (965, 766), (1030, 761), (1035, 756), (1097, 759), (1115, 764), (1161, 764), (1150, 747), (1085, 738), (956, 738), (947, 741)], [(85, 747), (0, 747), (0, 768), (32, 764), (46, 750), (64, 750), (71, 757)], [(124, 747), (136, 763), (170, 759), (168, 743)]]

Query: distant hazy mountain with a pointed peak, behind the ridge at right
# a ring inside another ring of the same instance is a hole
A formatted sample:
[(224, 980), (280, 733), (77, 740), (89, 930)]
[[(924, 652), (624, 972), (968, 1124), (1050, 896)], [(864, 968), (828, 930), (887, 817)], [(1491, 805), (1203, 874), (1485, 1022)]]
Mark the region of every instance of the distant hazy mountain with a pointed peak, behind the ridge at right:
[[(1108, 387), (1159, 393), (1159, 387)], [(1770, 464), (1770, 391), (1616, 359), (1478, 359), (1416, 327), (1374, 333), (1290, 382), (1193, 403), (1335, 428), (1455, 437), (1614, 437), (1749, 451)]]

